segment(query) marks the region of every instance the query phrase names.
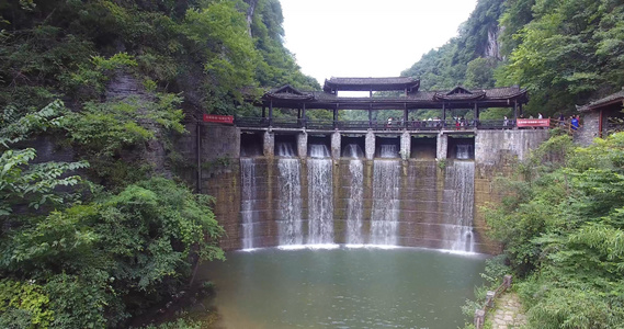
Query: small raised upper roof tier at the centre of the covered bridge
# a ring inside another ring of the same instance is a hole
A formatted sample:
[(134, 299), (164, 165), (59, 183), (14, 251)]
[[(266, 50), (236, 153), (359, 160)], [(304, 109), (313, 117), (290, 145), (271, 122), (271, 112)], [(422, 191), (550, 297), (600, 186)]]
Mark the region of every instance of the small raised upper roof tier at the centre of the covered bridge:
[(334, 78), (325, 80), (322, 90), (325, 92), (334, 92), (337, 90), (344, 91), (387, 91), (387, 90), (405, 90), (417, 91), (420, 87), (420, 80), (409, 77), (390, 77), (390, 78)]

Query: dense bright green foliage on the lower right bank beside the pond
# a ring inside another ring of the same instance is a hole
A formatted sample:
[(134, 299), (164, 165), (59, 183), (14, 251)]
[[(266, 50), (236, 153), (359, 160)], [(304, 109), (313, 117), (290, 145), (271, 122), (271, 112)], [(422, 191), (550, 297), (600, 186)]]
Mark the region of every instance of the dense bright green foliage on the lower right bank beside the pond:
[(486, 219), (524, 277), (531, 328), (622, 328), (624, 134), (587, 148), (553, 137), (501, 182)]

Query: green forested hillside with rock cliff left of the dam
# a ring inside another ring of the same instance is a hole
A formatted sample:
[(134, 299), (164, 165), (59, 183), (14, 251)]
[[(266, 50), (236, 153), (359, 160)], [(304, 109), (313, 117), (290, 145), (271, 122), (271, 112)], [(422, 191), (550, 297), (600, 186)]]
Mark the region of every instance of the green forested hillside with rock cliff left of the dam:
[(277, 0), (0, 2), (0, 327), (123, 327), (223, 259), (171, 136), (319, 88), (282, 20)]

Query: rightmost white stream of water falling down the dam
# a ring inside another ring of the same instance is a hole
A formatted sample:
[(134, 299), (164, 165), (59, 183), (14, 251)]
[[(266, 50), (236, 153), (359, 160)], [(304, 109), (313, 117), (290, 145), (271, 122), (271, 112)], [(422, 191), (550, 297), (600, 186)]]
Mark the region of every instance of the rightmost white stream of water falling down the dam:
[(449, 211), (444, 238), (455, 251), (475, 251), (473, 216), (475, 207), (475, 162), (454, 161), (446, 166), (445, 191)]

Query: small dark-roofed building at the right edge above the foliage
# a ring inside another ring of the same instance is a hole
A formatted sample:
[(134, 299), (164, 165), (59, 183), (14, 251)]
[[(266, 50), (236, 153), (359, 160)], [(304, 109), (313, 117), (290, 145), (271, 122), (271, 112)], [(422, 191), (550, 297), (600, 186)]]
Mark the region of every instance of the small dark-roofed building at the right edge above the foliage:
[(583, 126), (575, 136), (580, 145), (590, 145), (593, 138), (623, 131), (624, 88), (587, 105), (577, 106), (583, 118)]

